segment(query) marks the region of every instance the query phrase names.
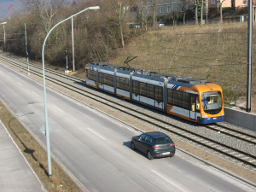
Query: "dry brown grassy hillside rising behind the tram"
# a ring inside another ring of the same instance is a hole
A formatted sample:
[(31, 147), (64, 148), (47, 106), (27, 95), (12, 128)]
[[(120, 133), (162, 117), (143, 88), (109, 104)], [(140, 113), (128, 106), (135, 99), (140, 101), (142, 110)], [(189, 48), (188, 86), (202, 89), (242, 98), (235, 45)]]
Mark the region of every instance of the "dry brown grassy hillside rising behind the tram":
[[(131, 67), (207, 79), (221, 85), (226, 107), (246, 108), (247, 23), (164, 26), (133, 38), (116, 55), (110, 63), (125, 65), (127, 56), (137, 56), (129, 62)], [(253, 113), (256, 113), (255, 72), (253, 66)]]

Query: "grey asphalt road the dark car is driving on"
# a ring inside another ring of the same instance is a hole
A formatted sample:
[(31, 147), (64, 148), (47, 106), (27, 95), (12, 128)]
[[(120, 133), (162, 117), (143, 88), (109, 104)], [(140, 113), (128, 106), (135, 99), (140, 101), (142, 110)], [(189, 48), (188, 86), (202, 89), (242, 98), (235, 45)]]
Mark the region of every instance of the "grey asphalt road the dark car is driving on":
[[(0, 98), (45, 144), (42, 84), (0, 62)], [(140, 134), (107, 114), (47, 89), (50, 148), (89, 191), (255, 191), (247, 183), (177, 150), (173, 158), (148, 160), (131, 150)], [(1, 139), (1, 137), (0, 137)], [(55, 173), (53, 172), (53, 175)]]

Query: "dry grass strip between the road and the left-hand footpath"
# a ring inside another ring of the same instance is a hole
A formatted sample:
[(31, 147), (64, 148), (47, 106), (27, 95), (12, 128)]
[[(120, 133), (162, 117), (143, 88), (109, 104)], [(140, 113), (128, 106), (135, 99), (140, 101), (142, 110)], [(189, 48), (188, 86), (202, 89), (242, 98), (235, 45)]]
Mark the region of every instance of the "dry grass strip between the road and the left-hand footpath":
[(26, 157), (26, 160), (32, 166), (32, 169), (38, 175), (44, 188), (48, 191), (80, 191), (79, 187), (73, 180), (67, 176), (60, 166), (52, 162), (52, 178), (48, 177), (47, 154), (44, 148), (26, 131), (20, 122), (5, 108), (0, 102), (0, 119), (3, 125), (8, 129), (11, 137), (19, 146), (20, 151)]

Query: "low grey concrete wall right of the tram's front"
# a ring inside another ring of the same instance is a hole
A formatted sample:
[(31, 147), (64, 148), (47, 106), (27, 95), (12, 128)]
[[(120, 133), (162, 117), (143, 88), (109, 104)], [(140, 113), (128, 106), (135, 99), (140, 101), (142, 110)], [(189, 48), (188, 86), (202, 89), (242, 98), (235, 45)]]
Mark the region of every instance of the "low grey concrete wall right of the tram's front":
[(256, 131), (256, 115), (237, 111), (231, 108), (224, 108), (225, 117), (224, 120), (228, 123), (240, 125)]

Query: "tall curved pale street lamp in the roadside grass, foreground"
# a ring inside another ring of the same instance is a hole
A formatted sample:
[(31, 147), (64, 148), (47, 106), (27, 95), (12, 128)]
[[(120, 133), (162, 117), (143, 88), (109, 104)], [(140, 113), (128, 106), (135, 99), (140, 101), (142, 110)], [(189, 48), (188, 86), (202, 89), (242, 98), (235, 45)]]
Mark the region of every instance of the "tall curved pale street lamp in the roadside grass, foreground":
[(46, 145), (47, 145), (47, 159), (48, 159), (48, 174), (49, 174), (49, 178), (51, 178), (52, 172), (51, 172), (51, 161), (50, 161), (50, 148), (49, 148), (49, 125), (48, 125), (48, 113), (47, 113), (47, 101), (46, 101), (46, 88), (45, 88), (45, 73), (44, 73), (44, 46), (46, 43), (47, 38), (49, 37), (50, 32), (52, 32), (56, 26), (60, 25), (61, 23), (63, 23), (66, 20), (69, 20), (71, 18), (73, 18), (76, 15), (79, 15), (81, 13), (83, 13), (86, 10), (97, 10), (100, 9), (99, 6), (94, 6), (94, 7), (89, 7), (86, 8), (84, 10), (81, 10), (79, 13), (75, 14), (75, 15), (71, 15), (70, 17), (68, 17), (65, 20), (61, 20), (61, 22), (57, 23), (54, 27), (51, 28), (51, 30), (48, 32), (48, 34), (46, 35), (46, 38), (44, 39), (44, 44), (43, 44), (43, 49), (42, 49), (42, 62), (43, 62), (43, 82), (44, 82), (44, 118), (45, 118), (45, 131), (46, 131)]

